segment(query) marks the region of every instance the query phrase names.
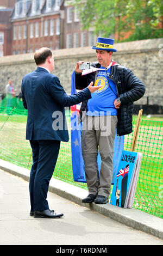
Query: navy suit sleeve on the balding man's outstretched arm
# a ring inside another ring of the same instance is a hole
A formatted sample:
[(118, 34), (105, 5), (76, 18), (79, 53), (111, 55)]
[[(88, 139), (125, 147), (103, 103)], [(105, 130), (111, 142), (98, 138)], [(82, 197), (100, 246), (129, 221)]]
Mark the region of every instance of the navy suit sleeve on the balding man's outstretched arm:
[(53, 77), (51, 84), (49, 84), (48, 90), (53, 99), (64, 107), (70, 107), (82, 101), (91, 99), (91, 93), (88, 88), (85, 88), (82, 92), (77, 94), (67, 95), (57, 76)]

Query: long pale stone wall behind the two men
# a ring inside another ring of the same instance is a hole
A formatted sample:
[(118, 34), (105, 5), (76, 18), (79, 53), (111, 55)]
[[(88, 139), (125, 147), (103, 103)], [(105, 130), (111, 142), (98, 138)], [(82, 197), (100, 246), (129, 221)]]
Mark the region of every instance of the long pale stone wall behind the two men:
[[(127, 66), (146, 86), (146, 93), (135, 104), (162, 103), (163, 99), (163, 38), (123, 42), (115, 44), (117, 52), (112, 58), (119, 64)], [(55, 70), (65, 91), (71, 93), (71, 75), (78, 60), (93, 62), (95, 50), (91, 47), (61, 49), (54, 52)], [(0, 92), (5, 93), (8, 78), (14, 83), (17, 94), (21, 92), (21, 81), (24, 75), (36, 69), (34, 53), (5, 56), (0, 58)]]

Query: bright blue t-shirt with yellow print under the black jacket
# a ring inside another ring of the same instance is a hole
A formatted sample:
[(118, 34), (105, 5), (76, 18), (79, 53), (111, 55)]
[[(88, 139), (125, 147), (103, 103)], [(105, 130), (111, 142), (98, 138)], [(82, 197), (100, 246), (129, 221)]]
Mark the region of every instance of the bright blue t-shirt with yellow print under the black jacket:
[[(101, 69), (104, 69), (101, 66)], [(110, 69), (107, 70), (109, 76)], [(112, 88), (114, 92), (109, 87)], [(114, 100), (117, 98), (116, 84), (114, 81), (107, 79), (106, 71), (99, 70), (94, 86), (102, 85), (102, 88), (92, 93), (92, 98), (87, 102), (87, 115), (98, 116), (98, 115), (117, 115), (117, 109), (114, 106)], [(116, 95), (115, 95), (115, 94)]]

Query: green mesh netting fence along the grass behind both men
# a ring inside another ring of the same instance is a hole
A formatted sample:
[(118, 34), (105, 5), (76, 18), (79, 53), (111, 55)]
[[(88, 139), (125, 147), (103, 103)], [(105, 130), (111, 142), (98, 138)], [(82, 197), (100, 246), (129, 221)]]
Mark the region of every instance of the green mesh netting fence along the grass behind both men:
[[(0, 158), (30, 170), (32, 150), (26, 141), (27, 110), (21, 99), (13, 99), (6, 107), (6, 99), (0, 102)], [(70, 112), (66, 111), (70, 134)], [(133, 119), (133, 127), (137, 119)], [(141, 118), (135, 151), (142, 153), (142, 162), (133, 208), (163, 218), (162, 133), (163, 121)], [(134, 132), (133, 132), (134, 133)], [(133, 133), (125, 136), (124, 149), (130, 150)], [(54, 178), (87, 190), (84, 183), (74, 182), (71, 163), (71, 136), (68, 143), (61, 142)], [(112, 188), (111, 188), (112, 189)]]

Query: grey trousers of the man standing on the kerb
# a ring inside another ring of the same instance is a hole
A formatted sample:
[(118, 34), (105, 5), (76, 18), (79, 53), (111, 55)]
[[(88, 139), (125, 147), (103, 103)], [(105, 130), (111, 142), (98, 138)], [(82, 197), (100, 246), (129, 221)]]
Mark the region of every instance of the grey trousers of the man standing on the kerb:
[[(85, 117), (82, 128), (82, 155), (89, 194), (109, 197), (112, 174), (116, 115)], [(100, 175), (97, 155), (101, 155)]]

